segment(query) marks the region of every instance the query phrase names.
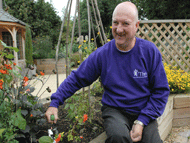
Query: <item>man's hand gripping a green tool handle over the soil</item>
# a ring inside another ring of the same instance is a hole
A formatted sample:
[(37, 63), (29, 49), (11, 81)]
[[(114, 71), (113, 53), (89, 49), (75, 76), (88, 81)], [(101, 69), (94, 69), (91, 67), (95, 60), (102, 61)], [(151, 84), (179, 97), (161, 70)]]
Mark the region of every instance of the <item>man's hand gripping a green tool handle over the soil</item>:
[[(55, 120), (54, 121), (51, 121), (51, 119), (50, 119), (50, 116), (51, 115), (54, 115), (54, 117), (55, 117)], [(49, 123), (56, 123), (57, 122), (57, 120), (58, 120), (58, 109), (56, 108), (56, 107), (49, 107), (48, 109), (47, 109), (47, 111), (46, 111), (46, 113), (45, 113), (45, 116), (46, 116), (46, 118), (47, 118), (47, 121), (49, 122)]]

